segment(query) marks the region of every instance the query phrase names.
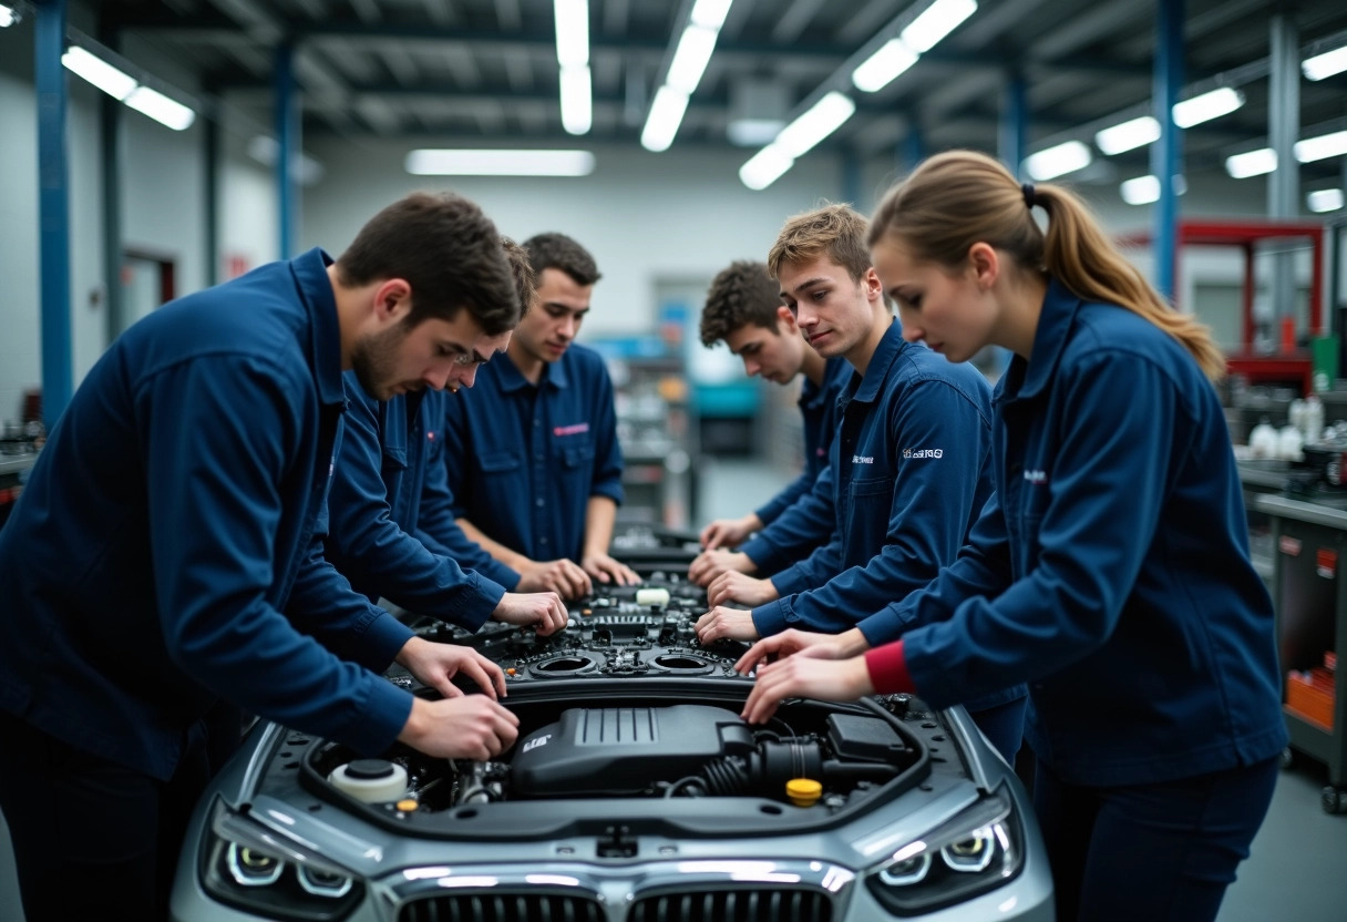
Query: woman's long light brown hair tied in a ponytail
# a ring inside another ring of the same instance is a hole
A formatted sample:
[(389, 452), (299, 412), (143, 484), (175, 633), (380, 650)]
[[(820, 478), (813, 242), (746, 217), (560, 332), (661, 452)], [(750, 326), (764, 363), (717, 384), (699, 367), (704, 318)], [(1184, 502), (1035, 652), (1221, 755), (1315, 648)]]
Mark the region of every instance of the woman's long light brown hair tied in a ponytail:
[[(1044, 233), (1033, 220), (1048, 213)], [(1192, 355), (1208, 379), (1226, 373), (1211, 330), (1181, 314), (1113, 245), (1084, 202), (1061, 186), (1021, 186), (999, 162), (947, 151), (885, 195), (870, 221), (870, 247), (893, 237), (915, 259), (959, 268), (975, 243), (1009, 253), (1025, 272), (1047, 272), (1078, 298), (1141, 314)]]

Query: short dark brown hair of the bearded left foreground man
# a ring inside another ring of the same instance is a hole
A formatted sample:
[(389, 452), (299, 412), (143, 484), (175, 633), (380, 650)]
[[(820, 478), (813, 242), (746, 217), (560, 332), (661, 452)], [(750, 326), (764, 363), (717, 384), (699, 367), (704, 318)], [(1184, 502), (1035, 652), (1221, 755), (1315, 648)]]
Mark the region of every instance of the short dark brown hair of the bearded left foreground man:
[(454, 193), (412, 193), (372, 217), (337, 260), (348, 288), (405, 279), (408, 326), (466, 307), (488, 336), (519, 324), (520, 305), (496, 225)]

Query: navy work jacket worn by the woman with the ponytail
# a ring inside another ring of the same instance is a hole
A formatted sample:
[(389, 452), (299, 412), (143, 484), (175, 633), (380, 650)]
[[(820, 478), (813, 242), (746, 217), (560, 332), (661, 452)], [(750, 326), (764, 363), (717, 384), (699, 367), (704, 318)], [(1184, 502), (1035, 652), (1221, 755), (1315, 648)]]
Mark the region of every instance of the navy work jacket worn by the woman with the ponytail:
[(935, 706), (1028, 681), (1025, 737), (1071, 783), (1281, 752), (1272, 600), (1220, 402), (1188, 352), (1053, 282), (995, 411), (994, 500), (925, 592), (859, 625), (870, 643), (902, 634)]

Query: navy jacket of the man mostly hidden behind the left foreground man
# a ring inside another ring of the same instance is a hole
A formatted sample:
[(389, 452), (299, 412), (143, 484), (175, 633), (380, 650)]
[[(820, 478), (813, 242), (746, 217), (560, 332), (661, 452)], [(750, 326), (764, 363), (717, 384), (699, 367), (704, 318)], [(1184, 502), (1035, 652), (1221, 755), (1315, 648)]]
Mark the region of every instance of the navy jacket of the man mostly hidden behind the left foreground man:
[[(370, 601), (384, 596), (405, 609), (475, 631), (505, 589), (471, 570), (465, 573), (453, 558), (414, 536), (430, 446), (443, 441), (443, 408), (428, 407), (438, 418), (427, 419), (424, 391), (380, 402), (365, 394), (356, 372), (346, 372), (342, 383), (346, 427), (327, 499), (327, 559)], [(450, 523), (462, 535), (453, 519)]]

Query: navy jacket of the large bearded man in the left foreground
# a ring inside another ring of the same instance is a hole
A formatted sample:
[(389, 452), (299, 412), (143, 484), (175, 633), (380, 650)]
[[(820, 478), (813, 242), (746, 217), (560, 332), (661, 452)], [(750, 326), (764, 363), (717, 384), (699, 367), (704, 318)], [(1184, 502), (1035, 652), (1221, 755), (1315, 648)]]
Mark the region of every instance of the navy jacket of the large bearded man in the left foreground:
[(160, 779), (217, 698), (361, 752), (401, 731), (370, 669), (411, 632), (313, 541), (345, 404), (327, 262), (180, 298), (90, 369), (0, 530), (0, 708)]

